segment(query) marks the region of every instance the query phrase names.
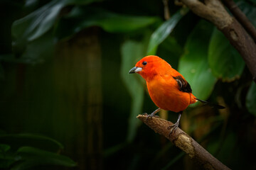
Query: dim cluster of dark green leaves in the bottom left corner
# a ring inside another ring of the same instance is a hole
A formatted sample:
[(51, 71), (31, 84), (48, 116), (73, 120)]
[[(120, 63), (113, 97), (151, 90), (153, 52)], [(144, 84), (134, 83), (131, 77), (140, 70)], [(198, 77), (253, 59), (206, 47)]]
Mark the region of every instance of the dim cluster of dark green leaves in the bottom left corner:
[(49, 137), (3, 134), (0, 141), (4, 143), (0, 144), (1, 169), (23, 170), (41, 165), (76, 166), (72, 159), (57, 153), (63, 146)]

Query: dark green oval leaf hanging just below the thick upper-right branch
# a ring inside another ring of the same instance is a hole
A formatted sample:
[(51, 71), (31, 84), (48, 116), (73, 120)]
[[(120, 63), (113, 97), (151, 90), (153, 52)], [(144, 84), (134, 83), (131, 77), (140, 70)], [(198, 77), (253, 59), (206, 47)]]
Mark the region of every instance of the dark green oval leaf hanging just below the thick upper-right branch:
[(210, 38), (208, 62), (213, 75), (223, 81), (239, 78), (245, 67), (240, 54), (217, 28)]

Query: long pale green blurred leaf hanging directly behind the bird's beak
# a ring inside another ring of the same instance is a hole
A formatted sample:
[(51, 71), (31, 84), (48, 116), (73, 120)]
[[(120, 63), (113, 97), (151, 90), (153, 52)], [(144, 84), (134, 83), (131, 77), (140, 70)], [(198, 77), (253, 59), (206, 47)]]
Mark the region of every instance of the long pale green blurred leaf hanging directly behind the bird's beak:
[(144, 45), (142, 42), (135, 42), (127, 40), (121, 48), (122, 63), (121, 63), (121, 76), (124, 84), (127, 86), (129, 94), (132, 97), (131, 113), (129, 117), (129, 129), (127, 141), (132, 142), (136, 135), (137, 127), (140, 121), (136, 118), (137, 115), (142, 113), (142, 106), (144, 100), (144, 89), (139, 82), (138, 75), (128, 74), (129, 70), (135, 66), (136, 62), (144, 56)]

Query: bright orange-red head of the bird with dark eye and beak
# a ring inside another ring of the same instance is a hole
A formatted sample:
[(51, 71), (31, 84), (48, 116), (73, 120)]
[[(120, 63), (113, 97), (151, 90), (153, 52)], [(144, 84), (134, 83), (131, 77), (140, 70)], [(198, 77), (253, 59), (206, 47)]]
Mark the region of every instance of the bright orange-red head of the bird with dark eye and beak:
[(129, 74), (138, 73), (144, 79), (148, 80), (164, 72), (165, 67), (171, 67), (166, 61), (162, 60), (160, 57), (155, 55), (149, 55), (143, 57), (142, 60), (139, 60), (135, 67), (133, 67)]

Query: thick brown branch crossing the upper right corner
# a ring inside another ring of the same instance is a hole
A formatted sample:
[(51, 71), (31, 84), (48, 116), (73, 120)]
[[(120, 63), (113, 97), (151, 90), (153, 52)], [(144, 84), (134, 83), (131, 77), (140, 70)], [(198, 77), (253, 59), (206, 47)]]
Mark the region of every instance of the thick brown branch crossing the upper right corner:
[(256, 44), (240, 23), (230, 16), (220, 0), (181, 0), (201, 18), (213, 23), (240, 53), (256, 83)]

